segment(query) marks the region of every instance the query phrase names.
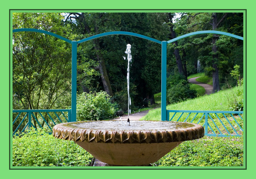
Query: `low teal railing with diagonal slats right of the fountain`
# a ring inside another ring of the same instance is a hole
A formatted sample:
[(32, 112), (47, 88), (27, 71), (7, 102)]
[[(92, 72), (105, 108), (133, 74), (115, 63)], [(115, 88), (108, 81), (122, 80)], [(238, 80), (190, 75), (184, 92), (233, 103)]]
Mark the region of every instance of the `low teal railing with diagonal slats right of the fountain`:
[(242, 117), (243, 111), (166, 110), (167, 121), (200, 124), (204, 127), (204, 135), (216, 137), (241, 137)]

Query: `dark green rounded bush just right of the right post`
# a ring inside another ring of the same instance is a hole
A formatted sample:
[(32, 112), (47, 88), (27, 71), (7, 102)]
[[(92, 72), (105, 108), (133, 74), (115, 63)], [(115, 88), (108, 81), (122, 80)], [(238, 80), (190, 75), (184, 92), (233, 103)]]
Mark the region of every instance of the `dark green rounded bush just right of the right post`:
[(167, 101), (176, 103), (196, 96), (195, 90), (190, 90), (188, 81), (183, 75), (176, 74), (167, 78)]

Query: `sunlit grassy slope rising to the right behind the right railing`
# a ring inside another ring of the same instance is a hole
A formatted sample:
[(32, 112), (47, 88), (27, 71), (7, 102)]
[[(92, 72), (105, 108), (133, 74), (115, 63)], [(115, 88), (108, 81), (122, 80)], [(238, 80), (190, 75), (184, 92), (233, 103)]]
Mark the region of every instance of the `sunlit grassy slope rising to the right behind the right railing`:
[[(229, 90), (221, 90), (217, 93), (189, 99), (180, 103), (170, 104), (168, 110), (217, 110), (229, 111), (230, 105), (237, 96), (238, 91), (242, 93), (243, 87), (235, 87)], [(153, 109), (141, 120), (161, 120), (161, 109)]]

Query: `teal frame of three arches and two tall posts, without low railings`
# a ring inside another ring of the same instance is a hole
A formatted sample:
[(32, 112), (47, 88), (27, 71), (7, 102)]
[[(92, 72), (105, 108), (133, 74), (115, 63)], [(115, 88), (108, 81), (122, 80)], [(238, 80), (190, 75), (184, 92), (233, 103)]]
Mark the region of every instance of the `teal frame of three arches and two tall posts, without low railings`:
[[(44, 34), (48, 34), (51, 36), (54, 36), (56, 38), (59, 38), (61, 40), (64, 40), (68, 43), (70, 43), (72, 45), (72, 72), (71, 72), (71, 122), (75, 122), (76, 121), (76, 81), (77, 81), (77, 44), (83, 43), (83, 42), (87, 42), (89, 40), (92, 39), (96, 39), (99, 37), (104, 37), (104, 36), (108, 36), (108, 35), (130, 35), (130, 36), (135, 36), (135, 37), (139, 37), (139, 38), (143, 38), (146, 40), (150, 40), (152, 42), (156, 42), (158, 44), (161, 44), (162, 46), (162, 72), (161, 72), (161, 120), (162, 121), (166, 121), (167, 119), (167, 111), (166, 111), (166, 54), (167, 54), (167, 44), (175, 42), (179, 39), (183, 39), (192, 35), (197, 35), (197, 34), (221, 34), (221, 35), (227, 35), (230, 37), (234, 37), (240, 40), (243, 40), (243, 37), (240, 37), (238, 35), (234, 35), (234, 34), (230, 34), (227, 32), (221, 32), (221, 31), (215, 31), (215, 30), (204, 30), (204, 31), (197, 31), (197, 32), (192, 32), (192, 33), (188, 33), (179, 37), (176, 37), (174, 39), (171, 39), (169, 41), (159, 41), (156, 39), (153, 39), (151, 37), (147, 37), (141, 34), (137, 34), (137, 33), (133, 33), (133, 32), (126, 32), (126, 31), (113, 31), (113, 32), (105, 32), (105, 33), (101, 33), (101, 34), (97, 34), (79, 41), (71, 41), (68, 40), (60, 35), (57, 35), (55, 33), (52, 32), (48, 32), (45, 30), (40, 30), (40, 29), (32, 29), (32, 28), (21, 28), (21, 29), (13, 29), (13, 32), (39, 32), (39, 33), (44, 33)], [(207, 128), (207, 127), (206, 127)]]

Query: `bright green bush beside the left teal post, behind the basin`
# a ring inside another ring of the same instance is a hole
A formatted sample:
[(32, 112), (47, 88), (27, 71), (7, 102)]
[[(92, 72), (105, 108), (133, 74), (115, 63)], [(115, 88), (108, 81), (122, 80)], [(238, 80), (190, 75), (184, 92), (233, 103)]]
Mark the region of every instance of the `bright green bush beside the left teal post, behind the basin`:
[(97, 121), (115, 117), (117, 104), (105, 91), (77, 95), (77, 121)]

